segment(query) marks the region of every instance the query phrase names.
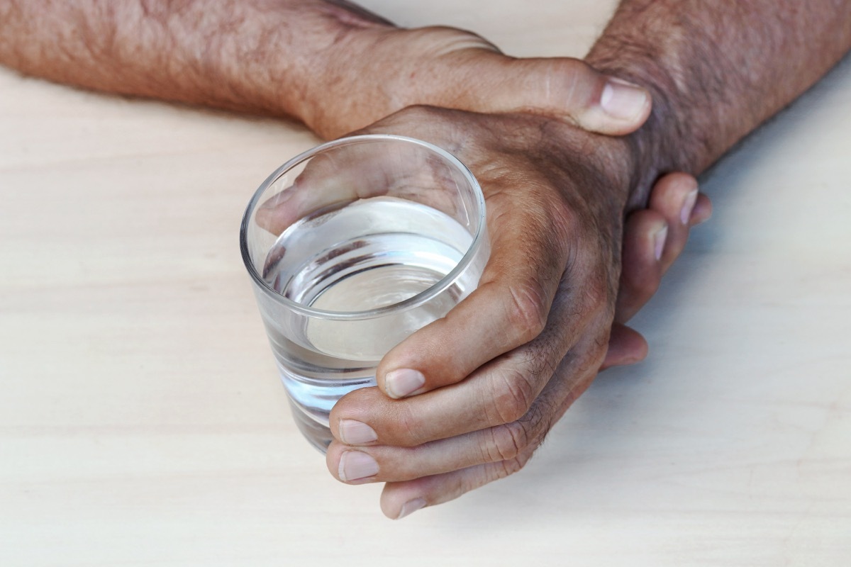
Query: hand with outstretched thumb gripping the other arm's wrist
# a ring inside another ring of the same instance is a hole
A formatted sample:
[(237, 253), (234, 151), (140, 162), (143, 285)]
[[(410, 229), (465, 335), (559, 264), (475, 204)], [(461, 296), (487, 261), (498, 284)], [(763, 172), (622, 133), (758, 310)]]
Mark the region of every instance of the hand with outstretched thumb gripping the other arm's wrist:
[[(340, 17), (348, 10), (340, 9)], [(470, 31), (400, 29), (374, 17), (317, 51), (301, 118), (335, 138), (411, 105), (528, 112), (625, 134), (647, 119), (648, 92), (569, 57), (517, 59)]]

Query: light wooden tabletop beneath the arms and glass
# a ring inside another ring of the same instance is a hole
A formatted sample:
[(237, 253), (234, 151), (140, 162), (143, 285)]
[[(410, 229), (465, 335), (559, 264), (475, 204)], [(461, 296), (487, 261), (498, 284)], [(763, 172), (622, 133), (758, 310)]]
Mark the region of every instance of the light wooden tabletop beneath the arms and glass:
[[(365, 4), (517, 55), (581, 55), (613, 5)], [(300, 438), (239, 256), (311, 133), (0, 70), (0, 564), (848, 565), (849, 133), (847, 58), (702, 180), (648, 360), (391, 522)]]

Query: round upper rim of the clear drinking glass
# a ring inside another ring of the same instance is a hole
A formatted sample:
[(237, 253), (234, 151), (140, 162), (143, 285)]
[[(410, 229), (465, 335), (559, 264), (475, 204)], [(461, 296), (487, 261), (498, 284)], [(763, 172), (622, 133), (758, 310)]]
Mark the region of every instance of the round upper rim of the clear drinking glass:
[[(375, 141), (400, 141), (408, 144), (419, 145), (420, 147), (426, 148), (426, 150), (430, 150), (436, 153), (438, 156), (443, 157), (443, 159), (445, 159), (447, 162), (449, 162), (458, 169), (461, 175), (469, 182), (473, 191), (475, 202), (478, 206), (478, 226), (476, 234), (473, 235), (473, 239), (470, 243), (470, 246), (467, 248), (466, 252), (464, 253), (464, 256), (461, 257), (458, 264), (455, 264), (454, 268), (449, 270), (449, 272), (444, 275), (440, 280), (427, 287), (422, 292), (417, 293), (416, 295), (408, 299), (404, 299), (403, 301), (400, 301), (398, 303), (391, 303), (390, 305), (385, 305), (384, 307), (367, 309), (363, 311), (334, 311), (329, 309), (317, 309), (305, 305), (303, 303), (295, 302), (292, 299), (285, 298), (281, 293), (276, 292), (257, 272), (257, 269), (254, 268), (254, 262), (251, 259), (251, 254), (250, 252), (248, 252), (248, 223), (250, 221), (252, 213), (254, 213), (254, 209), (259, 205), (260, 199), (262, 198), (266, 190), (269, 189), (269, 187), (274, 184), (278, 179), (280, 179), (284, 173), (287, 173), (289, 170), (291, 170), (293, 167), (298, 166), (300, 163), (305, 162), (313, 156), (317, 156), (317, 154), (325, 150), (330, 150), (341, 145), (363, 144)], [(260, 187), (258, 187), (257, 190), (254, 191), (254, 196), (252, 196), (251, 200), (248, 201), (248, 207), (246, 207), (245, 213), (243, 213), (243, 222), (240, 225), (239, 229), (239, 247), (243, 256), (243, 264), (245, 264), (245, 268), (248, 269), (248, 275), (250, 275), (251, 279), (254, 281), (256, 289), (259, 289), (261, 292), (264, 292), (264, 294), (268, 298), (271, 298), (276, 303), (279, 303), (283, 307), (286, 307), (287, 309), (290, 309), (300, 315), (306, 315), (309, 317), (315, 317), (326, 320), (363, 320), (374, 319), (383, 315), (389, 315), (391, 313), (414, 309), (415, 307), (418, 307), (423, 303), (428, 302), (432, 298), (435, 298), (441, 292), (445, 291), (449, 286), (452, 285), (452, 282), (457, 280), (459, 275), (471, 264), (479, 248), (482, 247), (482, 241), (486, 233), (486, 229), (487, 218), (485, 216), (485, 202), (484, 195), (482, 193), (482, 187), (479, 185), (478, 180), (471, 173), (470, 169), (468, 169), (462, 162), (460, 162), (457, 157), (450, 154), (447, 150), (443, 150), (443, 148), (423, 141), (421, 139), (409, 138), (408, 136), (399, 136), (397, 134), (359, 134), (357, 136), (347, 136), (344, 138), (334, 139), (329, 142), (317, 145), (311, 148), (310, 150), (301, 152), (298, 156), (294, 156), (292, 159), (283, 163), (282, 166), (277, 167), (277, 169), (272, 172), (263, 183), (260, 184)]]

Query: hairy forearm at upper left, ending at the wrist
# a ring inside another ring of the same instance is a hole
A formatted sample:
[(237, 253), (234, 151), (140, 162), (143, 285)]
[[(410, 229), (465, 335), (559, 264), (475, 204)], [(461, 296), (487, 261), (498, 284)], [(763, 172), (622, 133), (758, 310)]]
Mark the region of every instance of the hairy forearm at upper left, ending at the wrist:
[(328, 89), (346, 89), (328, 84), (340, 80), (346, 43), (387, 29), (323, 0), (0, 0), (0, 63), (83, 88), (310, 122)]

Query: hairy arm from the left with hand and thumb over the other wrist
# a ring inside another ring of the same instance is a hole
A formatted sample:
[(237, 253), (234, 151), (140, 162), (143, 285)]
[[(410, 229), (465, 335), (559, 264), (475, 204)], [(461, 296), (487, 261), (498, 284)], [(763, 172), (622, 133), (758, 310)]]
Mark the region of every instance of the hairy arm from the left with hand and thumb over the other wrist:
[(615, 134), (650, 107), (646, 91), (580, 60), (516, 60), (469, 31), (399, 28), (346, 0), (0, 0), (0, 64), (289, 116), (328, 138), (409, 105), (533, 111)]

